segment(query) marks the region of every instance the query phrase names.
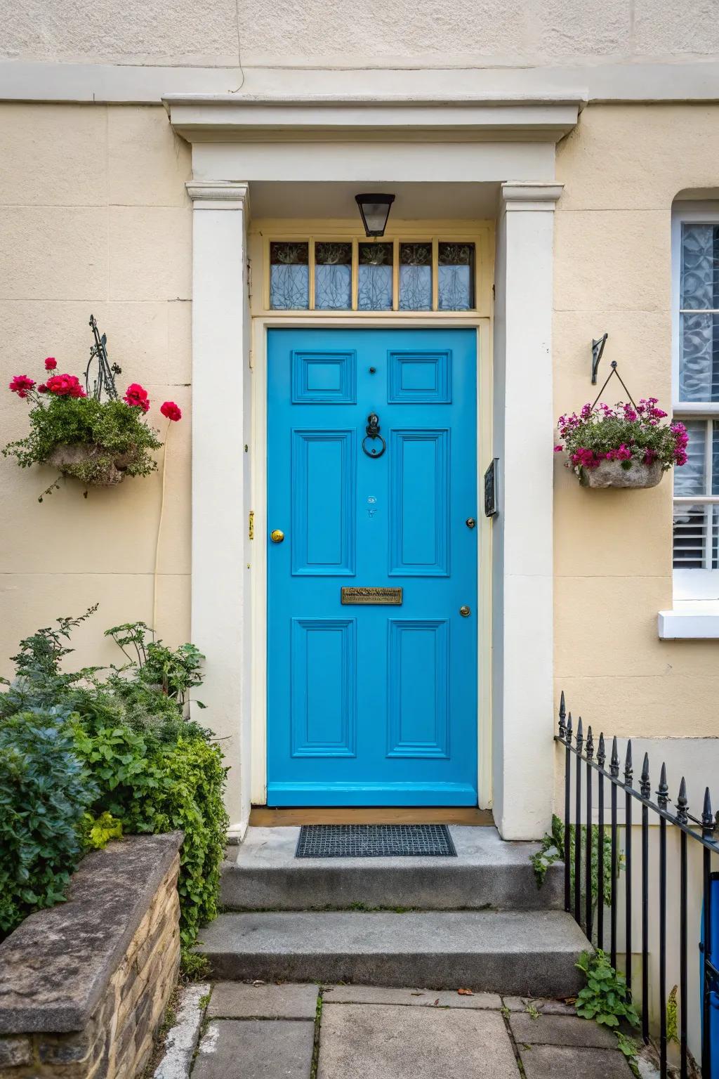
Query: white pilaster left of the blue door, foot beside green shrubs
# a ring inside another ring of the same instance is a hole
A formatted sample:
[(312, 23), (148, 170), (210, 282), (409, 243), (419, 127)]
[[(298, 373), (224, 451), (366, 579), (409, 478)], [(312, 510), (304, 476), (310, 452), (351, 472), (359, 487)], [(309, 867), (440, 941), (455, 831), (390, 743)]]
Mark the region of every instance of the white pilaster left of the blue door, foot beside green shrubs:
[(192, 640), (205, 653), (207, 711), (231, 766), (231, 829), (250, 808), (250, 724), (243, 707), (249, 626), (245, 432), (249, 311), (248, 185), (193, 180)]

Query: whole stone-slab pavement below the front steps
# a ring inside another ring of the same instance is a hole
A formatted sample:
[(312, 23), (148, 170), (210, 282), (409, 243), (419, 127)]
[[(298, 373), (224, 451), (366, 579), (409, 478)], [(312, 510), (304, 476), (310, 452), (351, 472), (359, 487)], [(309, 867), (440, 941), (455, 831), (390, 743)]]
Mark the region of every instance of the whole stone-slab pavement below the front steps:
[[(521, 1064), (520, 1064), (521, 1062)], [(555, 1000), (363, 985), (213, 989), (192, 1079), (630, 1079), (617, 1039)]]

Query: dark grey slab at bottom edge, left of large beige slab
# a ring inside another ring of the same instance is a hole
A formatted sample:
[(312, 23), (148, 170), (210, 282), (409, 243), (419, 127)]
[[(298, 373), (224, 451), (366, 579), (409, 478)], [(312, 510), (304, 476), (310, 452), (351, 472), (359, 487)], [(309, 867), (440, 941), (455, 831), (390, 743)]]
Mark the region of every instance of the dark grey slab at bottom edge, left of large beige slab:
[(314, 1023), (215, 1020), (199, 1043), (192, 1079), (309, 1079), (314, 1040)]

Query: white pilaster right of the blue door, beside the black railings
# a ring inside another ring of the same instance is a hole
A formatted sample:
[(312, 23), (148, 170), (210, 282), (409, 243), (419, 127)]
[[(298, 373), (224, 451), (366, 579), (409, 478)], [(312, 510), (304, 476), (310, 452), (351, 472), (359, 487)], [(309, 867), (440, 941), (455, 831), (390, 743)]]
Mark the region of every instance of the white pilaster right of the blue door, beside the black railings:
[(502, 183), (497, 230), (493, 537), (494, 815), (542, 835), (553, 801), (552, 276), (562, 185)]

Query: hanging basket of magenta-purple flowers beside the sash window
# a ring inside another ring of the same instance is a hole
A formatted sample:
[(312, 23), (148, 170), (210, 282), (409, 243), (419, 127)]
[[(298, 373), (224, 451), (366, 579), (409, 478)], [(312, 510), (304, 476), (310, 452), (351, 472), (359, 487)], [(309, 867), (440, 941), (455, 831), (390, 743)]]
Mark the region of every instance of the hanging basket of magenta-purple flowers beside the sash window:
[(613, 408), (587, 404), (579, 415), (559, 416), (554, 452), (567, 454), (566, 466), (582, 487), (656, 487), (665, 472), (687, 463), (687, 428), (663, 424), (666, 415), (655, 397)]

